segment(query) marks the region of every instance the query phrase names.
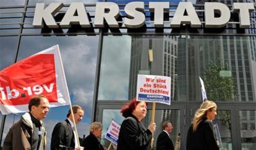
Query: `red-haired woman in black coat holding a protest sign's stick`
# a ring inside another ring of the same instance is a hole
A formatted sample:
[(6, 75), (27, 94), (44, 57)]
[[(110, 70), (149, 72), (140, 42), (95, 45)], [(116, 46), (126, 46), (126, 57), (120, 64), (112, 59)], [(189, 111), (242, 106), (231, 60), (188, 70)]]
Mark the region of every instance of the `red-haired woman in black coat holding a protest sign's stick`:
[(117, 150), (151, 149), (150, 141), (156, 124), (151, 122), (146, 129), (141, 122), (147, 114), (147, 105), (148, 103), (145, 101), (136, 101), (134, 98), (129, 104), (122, 107), (121, 113), (126, 119), (120, 128)]

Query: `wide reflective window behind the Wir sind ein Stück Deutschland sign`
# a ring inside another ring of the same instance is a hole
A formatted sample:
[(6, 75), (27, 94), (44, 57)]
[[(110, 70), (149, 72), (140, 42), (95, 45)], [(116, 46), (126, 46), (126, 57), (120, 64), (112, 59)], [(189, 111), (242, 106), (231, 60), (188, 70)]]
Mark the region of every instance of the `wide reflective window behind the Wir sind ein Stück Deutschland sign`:
[[(199, 76), (209, 100), (256, 101), (255, 61), (245, 44), (250, 40), (239, 36), (104, 36), (98, 100), (134, 98), (137, 74), (146, 73), (171, 77), (172, 101), (201, 101)], [(153, 49), (152, 63), (148, 49)]]

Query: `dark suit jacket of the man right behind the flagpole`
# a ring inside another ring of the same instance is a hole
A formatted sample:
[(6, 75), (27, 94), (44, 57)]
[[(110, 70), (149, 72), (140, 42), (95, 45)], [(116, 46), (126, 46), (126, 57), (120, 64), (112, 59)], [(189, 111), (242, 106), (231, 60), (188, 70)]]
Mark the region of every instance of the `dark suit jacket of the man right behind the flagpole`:
[(60, 145), (75, 148), (74, 132), (67, 119), (56, 124), (51, 135), (51, 150), (61, 149)]

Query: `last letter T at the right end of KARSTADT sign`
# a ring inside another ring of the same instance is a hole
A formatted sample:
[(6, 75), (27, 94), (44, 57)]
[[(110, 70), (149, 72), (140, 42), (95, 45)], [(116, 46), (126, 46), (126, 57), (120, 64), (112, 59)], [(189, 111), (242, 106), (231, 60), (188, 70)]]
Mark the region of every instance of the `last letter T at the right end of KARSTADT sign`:
[(234, 2), (233, 11), (239, 12), (240, 28), (249, 28), (250, 27), (249, 13), (254, 11), (254, 3)]

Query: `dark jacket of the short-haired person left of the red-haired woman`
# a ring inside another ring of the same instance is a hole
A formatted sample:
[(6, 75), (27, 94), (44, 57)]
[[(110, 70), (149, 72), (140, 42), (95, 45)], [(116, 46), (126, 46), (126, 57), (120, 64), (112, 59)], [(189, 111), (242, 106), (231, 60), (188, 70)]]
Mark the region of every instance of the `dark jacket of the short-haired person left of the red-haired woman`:
[(86, 150), (104, 150), (100, 141), (93, 135), (93, 133), (90, 133), (90, 135), (83, 140), (82, 146)]

